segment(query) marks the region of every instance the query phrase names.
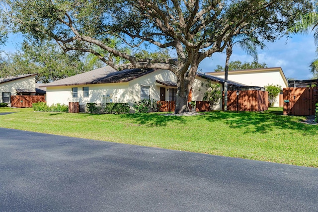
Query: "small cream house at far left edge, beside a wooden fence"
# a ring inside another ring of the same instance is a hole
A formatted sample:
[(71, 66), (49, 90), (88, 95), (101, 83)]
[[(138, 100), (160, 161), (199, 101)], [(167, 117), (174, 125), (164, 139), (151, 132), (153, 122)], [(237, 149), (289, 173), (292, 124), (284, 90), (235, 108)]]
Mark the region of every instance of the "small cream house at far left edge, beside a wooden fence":
[(36, 95), (35, 76), (34, 73), (0, 78), (0, 103), (10, 106), (11, 96)]

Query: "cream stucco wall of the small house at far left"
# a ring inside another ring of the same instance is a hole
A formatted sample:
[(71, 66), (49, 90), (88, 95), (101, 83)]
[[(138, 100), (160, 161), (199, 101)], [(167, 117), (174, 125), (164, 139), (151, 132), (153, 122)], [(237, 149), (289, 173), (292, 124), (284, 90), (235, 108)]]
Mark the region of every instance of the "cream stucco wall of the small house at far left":
[[(15, 89), (31, 90), (35, 92), (35, 76), (28, 76), (0, 83), (0, 103), (2, 103), (2, 92), (10, 92), (10, 95), (14, 96), (16, 95)], [(31, 95), (35, 95), (35, 93)]]

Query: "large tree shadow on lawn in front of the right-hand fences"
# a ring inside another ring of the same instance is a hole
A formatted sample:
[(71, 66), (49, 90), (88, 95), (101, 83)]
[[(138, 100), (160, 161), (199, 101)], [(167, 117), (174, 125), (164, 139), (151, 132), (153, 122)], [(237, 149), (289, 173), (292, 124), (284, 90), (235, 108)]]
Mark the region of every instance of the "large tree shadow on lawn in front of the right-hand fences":
[(285, 116), (280, 111), (239, 113), (213, 111), (205, 113), (199, 119), (205, 119), (209, 122), (221, 120), (230, 128), (242, 130), (243, 134), (254, 132), (266, 134), (277, 129), (289, 129), (303, 133), (303, 135), (317, 135), (317, 126), (300, 123), (303, 117)]

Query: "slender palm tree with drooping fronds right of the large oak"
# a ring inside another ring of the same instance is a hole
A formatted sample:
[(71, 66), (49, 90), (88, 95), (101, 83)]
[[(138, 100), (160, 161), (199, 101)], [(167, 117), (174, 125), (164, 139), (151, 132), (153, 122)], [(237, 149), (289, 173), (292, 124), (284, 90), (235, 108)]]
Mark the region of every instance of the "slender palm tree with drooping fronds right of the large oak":
[(238, 45), (243, 51), (246, 52), (247, 55), (253, 57), (254, 62), (258, 62), (258, 54), (257, 54), (257, 47), (263, 49), (266, 47), (264, 43), (259, 41), (256, 36), (253, 35), (245, 35), (239, 34), (237, 36), (232, 37), (226, 47), (226, 62), (225, 62), (225, 73), (224, 73), (224, 111), (228, 110), (228, 74), (229, 74), (229, 64), (230, 64), (230, 57), (233, 53), (233, 47)]

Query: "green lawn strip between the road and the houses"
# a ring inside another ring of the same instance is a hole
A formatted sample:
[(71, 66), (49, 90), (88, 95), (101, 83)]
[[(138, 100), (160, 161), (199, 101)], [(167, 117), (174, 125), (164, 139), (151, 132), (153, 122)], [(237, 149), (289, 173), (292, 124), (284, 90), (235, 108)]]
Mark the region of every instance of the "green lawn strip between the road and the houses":
[(318, 167), (318, 126), (266, 112), (214, 111), (201, 116), (92, 115), (0, 108), (0, 126), (85, 139)]

